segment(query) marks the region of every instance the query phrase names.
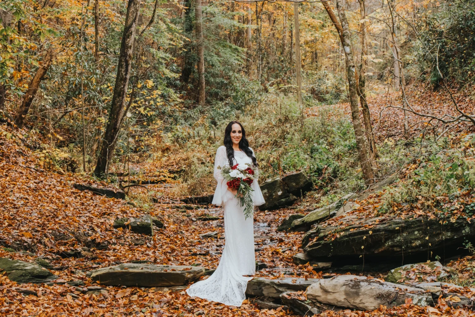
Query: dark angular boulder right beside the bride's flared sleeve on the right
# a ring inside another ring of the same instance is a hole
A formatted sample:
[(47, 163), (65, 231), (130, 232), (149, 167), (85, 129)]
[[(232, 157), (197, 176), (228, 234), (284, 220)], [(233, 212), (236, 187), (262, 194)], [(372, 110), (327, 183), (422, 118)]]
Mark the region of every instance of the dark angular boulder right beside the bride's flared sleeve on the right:
[(280, 177), (271, 178), (261, 184), (262, 195), (265, 204), (259, 206), (259, 210), (274, 210), (291, 206), (297, 197), (288, 192), (288, 188)]

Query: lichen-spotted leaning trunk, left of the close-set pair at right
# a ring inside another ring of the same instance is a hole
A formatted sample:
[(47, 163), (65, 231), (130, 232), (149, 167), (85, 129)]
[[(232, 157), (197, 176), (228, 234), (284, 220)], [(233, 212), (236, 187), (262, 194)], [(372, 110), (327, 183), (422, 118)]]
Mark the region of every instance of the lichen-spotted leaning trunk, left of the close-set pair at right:
[(358, 159), (361, 164), (361, 171), (366, 184), (374, 183), (374, 172), (371, 162), (368, 160), (368, 153), (366, 151), (366, 140), (363, 129), (361, 128), (360, 111), (358, 109), (358, 93), (357, 83), (355, 77), (355, 65), (353, 59), (353, 52), (351, 46), (351, 33), (348, 20), (346, 19), (343, 0), (336, 0), (336, 7), (338, 16), (340, 17), (343, 38), (343, 50), (346, 59), (346, 74), (348, 77), (348, 91), (350, 93), (350, 107), (352, 110), (353, 129), (356, 139), (356, 149), (358, 151)]

